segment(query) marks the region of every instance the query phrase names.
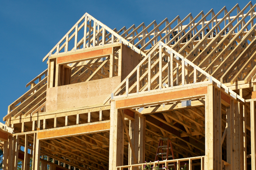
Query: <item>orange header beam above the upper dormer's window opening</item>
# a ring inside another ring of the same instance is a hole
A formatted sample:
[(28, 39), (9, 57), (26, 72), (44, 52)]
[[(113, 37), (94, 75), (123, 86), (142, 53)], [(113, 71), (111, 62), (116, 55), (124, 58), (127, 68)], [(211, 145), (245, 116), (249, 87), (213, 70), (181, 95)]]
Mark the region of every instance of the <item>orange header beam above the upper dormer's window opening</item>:
[(112, 47), (106, 48), (106, 49), (98, 49), (98, 50), (89, 51), (89, 52), (82, 52), (82, 53), (78, 53), (78, 54), (62, 56), (62, 57), (58, 57), (57, 64), (69, 62), (69, 61), (75, 61), (75, 60), (82, 60), (82, 59), (91, 58), (91, 57), (97, 57), (97, 56), (101, 56), (101, 55), (108, 55), (108, 54), (110, 55), (111, 53), (112, 53)]

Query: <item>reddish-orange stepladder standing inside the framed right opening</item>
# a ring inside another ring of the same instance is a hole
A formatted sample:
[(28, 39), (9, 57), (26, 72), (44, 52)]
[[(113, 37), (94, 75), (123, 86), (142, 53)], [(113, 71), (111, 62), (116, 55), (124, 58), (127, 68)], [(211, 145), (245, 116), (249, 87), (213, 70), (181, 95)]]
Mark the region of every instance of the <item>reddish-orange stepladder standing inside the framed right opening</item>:
[[(167, 140), (167, 145), (163, 145), (163, 141)], [(159, 149), (161, 148), (161, 153), (159, 152)], [(169, 156), (169, 150), (171, 149), (171, 156)], [(163, 150), (166, 150), (166, 152), (164, 153)], [(164, 160), (164, 158), (166, 158), (165, 160), (168, 160), (168, 158), (172, 158), (174, 159), (174, 154), (173, 154), (173, 149), (172, 149), (172, 144), (171, 144), (171, 139), (170, 138), (161, 138), (159, 139), (159, 143), (158, 143), (158, 147), (157, 147), (157, 151), (156, 151), (156, 155), (155, 155), (155, 161), (157, 160), (158, 155), (162, 155), (162, 160)], [(166, 155), (166, 156), (163, 156)], [(175, 163), (173, 164), (168, 164), (168, 166), (174, 166), (174, 169), (176, 169), (176, 165)], [(164, 169), (164, 165), (162, 168), (160, 169)]]

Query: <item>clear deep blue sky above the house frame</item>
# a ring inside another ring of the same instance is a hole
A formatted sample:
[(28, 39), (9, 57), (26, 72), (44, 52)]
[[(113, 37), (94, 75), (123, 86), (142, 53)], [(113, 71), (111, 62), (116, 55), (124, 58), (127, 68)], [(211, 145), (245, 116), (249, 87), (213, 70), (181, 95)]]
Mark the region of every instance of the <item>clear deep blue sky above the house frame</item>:
[[(43, 57), (59, 42), (69, 29), (88, 12), (111, 29), (129, 28), (166, 17), (169, 21), (190, 12), (195, 17), (213, 8), (217, 13), (225, 5), (228, 11), (243, 0), (179, 0), (179, 1), (1, 1), (0, 2), (0, 120), (8, 105), (23, 95), (25, 85), (47, 68)], [(253, 4), (255, 1), (253, 1)]]

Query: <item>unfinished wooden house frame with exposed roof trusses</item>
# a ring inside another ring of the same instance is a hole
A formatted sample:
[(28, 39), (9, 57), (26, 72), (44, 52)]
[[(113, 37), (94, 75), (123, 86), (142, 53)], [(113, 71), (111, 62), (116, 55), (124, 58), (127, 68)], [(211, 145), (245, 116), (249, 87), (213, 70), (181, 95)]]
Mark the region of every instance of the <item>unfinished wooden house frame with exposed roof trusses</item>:
[(255, 170), (255, 8), (120, 30), (85, 13), (8, 106), (3, 170)]

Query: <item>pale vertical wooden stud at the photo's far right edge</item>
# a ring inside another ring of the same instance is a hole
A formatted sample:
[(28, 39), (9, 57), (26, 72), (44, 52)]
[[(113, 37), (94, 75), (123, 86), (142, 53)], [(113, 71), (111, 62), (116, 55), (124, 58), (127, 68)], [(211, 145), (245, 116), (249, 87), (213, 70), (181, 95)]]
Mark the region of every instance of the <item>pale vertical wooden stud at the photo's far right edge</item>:
[(256, 131), (256, 125), (255, 125), (256, 117), (255, 117), (255, 102), (251, 101), (251, 169), (256, 168), (255, 160), (256, 160), (256, 145), (255, 145), (255, 131)]

